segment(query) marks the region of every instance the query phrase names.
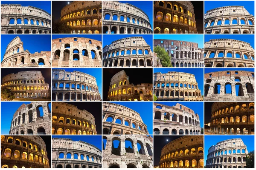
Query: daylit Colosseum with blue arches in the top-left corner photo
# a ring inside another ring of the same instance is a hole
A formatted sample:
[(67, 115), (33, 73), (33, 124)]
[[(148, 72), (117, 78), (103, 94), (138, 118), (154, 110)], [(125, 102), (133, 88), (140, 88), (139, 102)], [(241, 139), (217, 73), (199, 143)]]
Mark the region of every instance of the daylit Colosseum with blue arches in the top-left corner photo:
[(1, 4), (1, 34), (51, 34), (51, 14), (33, 6)]

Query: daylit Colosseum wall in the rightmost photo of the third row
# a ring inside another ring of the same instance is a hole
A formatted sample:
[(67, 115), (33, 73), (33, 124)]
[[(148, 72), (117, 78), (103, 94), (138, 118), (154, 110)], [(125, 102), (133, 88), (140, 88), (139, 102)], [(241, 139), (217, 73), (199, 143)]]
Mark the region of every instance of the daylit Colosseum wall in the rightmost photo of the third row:
[(217, 71), (204, 74), (206, 101), (254, 101), (254, 72)]

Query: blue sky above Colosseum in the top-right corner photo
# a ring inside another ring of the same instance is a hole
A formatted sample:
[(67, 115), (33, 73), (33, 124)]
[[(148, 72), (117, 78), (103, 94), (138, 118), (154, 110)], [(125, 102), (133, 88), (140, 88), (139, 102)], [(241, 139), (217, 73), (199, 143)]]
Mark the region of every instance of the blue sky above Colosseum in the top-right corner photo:
[(244, 8), (254, 16), (254, 1), (204, 1), (204, 13), (207, 11), (218, 8), (218, 7), (223, 7), (223, 6), (244, 6)]

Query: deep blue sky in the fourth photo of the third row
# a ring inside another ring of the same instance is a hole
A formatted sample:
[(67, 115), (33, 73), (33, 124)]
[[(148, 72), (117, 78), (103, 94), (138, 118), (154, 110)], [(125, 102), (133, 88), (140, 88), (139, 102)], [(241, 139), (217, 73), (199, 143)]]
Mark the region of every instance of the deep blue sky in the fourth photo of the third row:
[(203, 68), (154, 68), (154, 73), (161, 72), (167, 73), (167, 72), (183, 72), (183, 73), (189, 73), (194, 74), (196, 82), (198, 82), (198, 88), (201, 90), (201, 95), (204, 94), (204, 69)]

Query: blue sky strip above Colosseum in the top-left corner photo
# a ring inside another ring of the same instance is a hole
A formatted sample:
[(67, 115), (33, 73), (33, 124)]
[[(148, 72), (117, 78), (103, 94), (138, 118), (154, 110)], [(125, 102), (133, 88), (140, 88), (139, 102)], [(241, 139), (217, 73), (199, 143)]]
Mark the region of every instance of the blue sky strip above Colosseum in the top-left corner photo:
[(1, 1), (1, 4), (19, 4), (21, 6), (33, 6), (51, 14), (51, 1)]

